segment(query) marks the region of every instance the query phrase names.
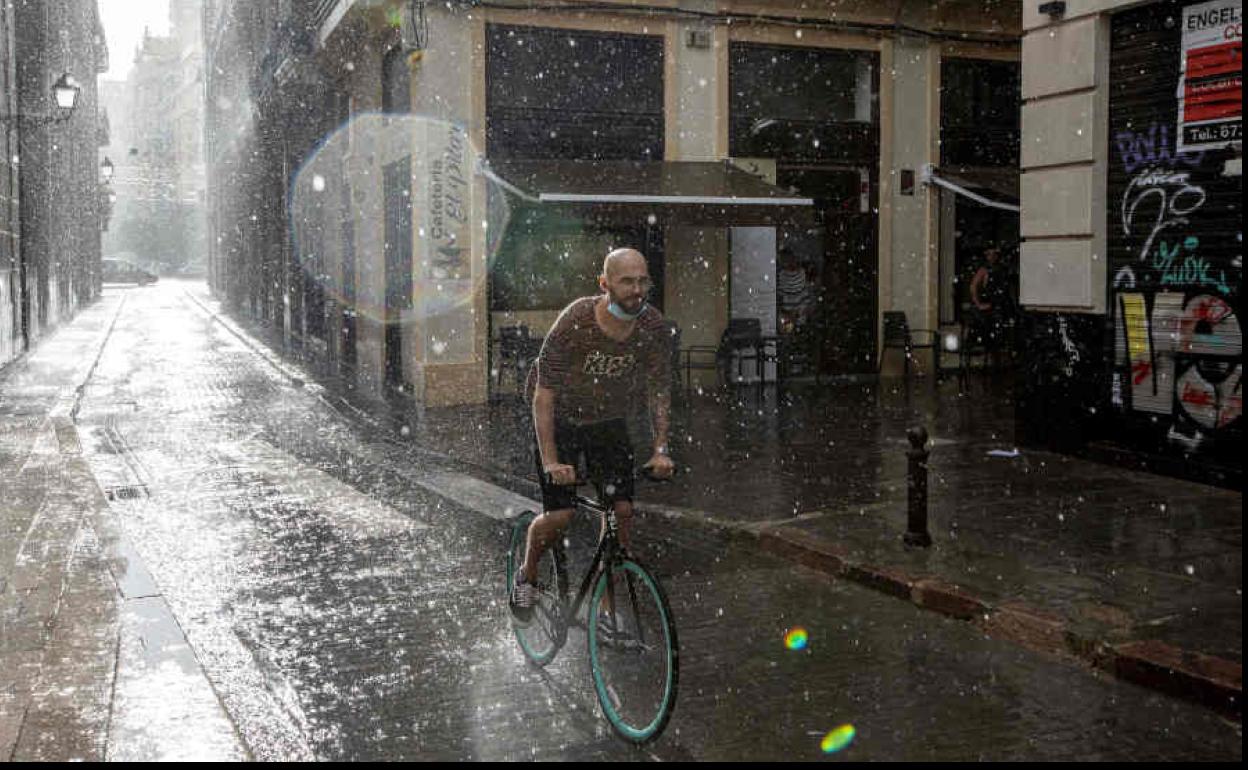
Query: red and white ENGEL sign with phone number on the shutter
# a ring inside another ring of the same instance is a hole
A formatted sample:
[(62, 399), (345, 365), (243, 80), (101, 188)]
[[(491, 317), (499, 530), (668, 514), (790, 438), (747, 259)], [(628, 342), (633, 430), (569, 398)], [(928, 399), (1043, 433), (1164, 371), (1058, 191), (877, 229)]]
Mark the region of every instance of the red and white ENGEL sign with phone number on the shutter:
[(1224, 147), (1243, 139), (1242, 0), (1183, 9), (1178, 150)]

